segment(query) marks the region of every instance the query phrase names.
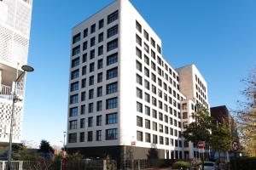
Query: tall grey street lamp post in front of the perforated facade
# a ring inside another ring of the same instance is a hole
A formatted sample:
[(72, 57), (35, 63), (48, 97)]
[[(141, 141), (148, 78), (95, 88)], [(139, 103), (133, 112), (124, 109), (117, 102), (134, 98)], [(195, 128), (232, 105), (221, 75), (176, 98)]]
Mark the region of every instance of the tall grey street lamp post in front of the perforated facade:
[(10, 122), (10, 130), (9, 130), (9, 156), (8, 156), (8, 170), (11, 169), (11, 156), (12, 156), (12, 142), (13, 142), (13, 121), (15, 114), (15, 103), (17, 103), (20, 99), (16, 95), (17, 83), (20, 82), (20, 77), (22, 77), (26, 72), (34, 71), (33, 67), (30, 65), (22, 65), (21, 69), (23, 70), (15, 80), (15, 90), (13, 92), (13, 104), (12, 104), (12, 112), (11, 112), (11, 122)]

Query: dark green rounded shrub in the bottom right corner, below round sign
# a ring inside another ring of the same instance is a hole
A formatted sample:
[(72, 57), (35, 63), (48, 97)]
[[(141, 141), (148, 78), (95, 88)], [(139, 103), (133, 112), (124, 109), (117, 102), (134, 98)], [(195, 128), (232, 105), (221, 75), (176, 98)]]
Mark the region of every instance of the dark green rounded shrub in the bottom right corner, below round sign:
[(238, 157), (230, 161), (230, 169), (247, 170), (255, 169), (256, 157)]

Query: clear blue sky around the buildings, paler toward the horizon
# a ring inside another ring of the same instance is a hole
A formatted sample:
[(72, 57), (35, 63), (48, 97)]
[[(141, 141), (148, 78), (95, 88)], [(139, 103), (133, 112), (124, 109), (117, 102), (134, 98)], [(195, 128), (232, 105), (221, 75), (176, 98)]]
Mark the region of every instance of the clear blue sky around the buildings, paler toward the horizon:
[[(23, 139), (61, 145), (67, 129), (71, 29), (113, 0), (34, 0)], [(256, 64), (255, 0), (131, 0), (177, 68), (195, 64), (210, 105), (236, 108), (240, 82)]]

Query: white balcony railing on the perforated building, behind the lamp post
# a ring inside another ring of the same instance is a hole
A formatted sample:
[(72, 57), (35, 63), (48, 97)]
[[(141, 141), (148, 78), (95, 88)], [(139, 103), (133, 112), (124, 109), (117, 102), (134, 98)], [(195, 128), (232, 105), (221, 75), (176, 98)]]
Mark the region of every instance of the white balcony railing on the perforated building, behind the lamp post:
[[(19, 97), (23, 96), (23, 90), (20, 90), (19, 88), (16, 89), (16, 94)], [(0, 85), (0, 99), (13, 99), (13, 91), (12, 88), (5, 85)]]

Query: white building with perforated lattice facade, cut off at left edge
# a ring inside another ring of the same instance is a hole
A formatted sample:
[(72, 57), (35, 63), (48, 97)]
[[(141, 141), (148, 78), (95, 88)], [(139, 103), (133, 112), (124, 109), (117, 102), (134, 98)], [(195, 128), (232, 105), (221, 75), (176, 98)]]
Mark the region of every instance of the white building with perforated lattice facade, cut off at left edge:
[[(0, 0), (0, 143), (9, 142), (12, 92), (17, 74), (27, 61), (31, 15), (32, 0)], [(15, 104), (15, 143), (20, 143), (24, 90), (23, 77), (16, 91), (22, 101)]]

